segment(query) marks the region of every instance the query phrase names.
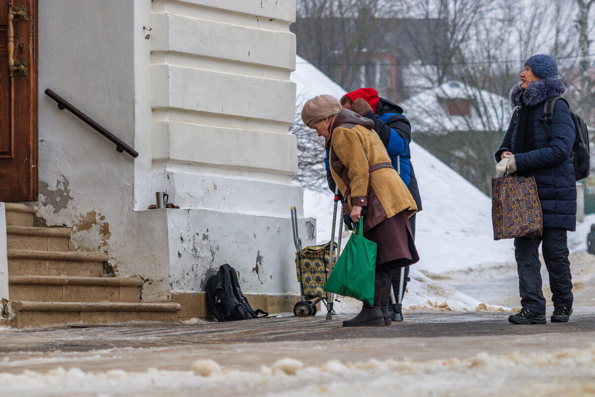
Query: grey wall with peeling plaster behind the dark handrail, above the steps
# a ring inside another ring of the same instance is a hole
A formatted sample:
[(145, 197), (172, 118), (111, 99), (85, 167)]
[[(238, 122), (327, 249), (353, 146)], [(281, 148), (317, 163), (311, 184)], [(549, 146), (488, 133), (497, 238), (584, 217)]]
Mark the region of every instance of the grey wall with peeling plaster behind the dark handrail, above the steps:
[[(168, 299), (167, 218), (134, 211), (136, 180), (137, 194), (148, 196), (151, 179), (150, 55), (142, 29), (151, 4), (40, 1), (39, 15), (37, 222), (72, 227), (75, 249), (107, 252), (118, 274), (145, 278), (143, 299)], [(46, 88), (136, 148), (139, 159), (58, 110)]]

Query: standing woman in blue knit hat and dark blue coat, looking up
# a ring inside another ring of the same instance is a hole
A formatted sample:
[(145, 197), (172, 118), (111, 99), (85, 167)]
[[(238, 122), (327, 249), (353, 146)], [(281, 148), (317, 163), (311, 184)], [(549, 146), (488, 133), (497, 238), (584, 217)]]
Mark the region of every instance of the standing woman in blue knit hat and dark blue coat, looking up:
[[(543, 212), (543, 234), (515, 238), (522, 309), (509, 317), (509, 322), (546, 323), (540, 245), (552, 290), (551, 321), (566, 322), (572, 314), (573, 300), (566, 232), (574, 231), (577, 224), (577, 188), (571, 157), (576, 132), (568, 104), (560, 98), (566, 92), (566, 84), (552, 57), (533, 55), (525, 62), (520, 77), (521, 81), (511, 89), (515, 111), (496, 151), (496, 169), (500, 173), (535, 177)], [(547, 115), (544, 104), (550, 100), (554, 101), (553, 111)]]

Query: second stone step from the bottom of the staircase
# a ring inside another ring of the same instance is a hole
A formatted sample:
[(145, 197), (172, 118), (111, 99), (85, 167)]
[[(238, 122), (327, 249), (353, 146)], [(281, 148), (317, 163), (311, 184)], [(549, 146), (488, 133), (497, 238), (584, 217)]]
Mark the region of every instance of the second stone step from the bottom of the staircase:
[(140, 277), (9, 275), (11, 300), (37, 302), (140, 302)]

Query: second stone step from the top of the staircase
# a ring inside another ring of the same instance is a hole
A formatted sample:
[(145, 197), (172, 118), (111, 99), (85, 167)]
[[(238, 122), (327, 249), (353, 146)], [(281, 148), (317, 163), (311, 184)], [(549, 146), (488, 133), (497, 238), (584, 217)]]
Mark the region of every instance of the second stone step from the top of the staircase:
[(7, 248), (9, 250), (68, 251), (71, 232), (72, 230), (68, 228), (7, 226)]

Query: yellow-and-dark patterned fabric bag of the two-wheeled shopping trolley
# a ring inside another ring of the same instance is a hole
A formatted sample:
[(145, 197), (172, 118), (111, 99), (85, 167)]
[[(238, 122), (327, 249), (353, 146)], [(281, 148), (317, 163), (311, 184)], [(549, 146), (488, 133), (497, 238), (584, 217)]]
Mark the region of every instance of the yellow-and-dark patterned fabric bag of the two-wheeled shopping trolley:
[[(333, 243), (335, 248), (337, 243)], [(305, 299), (319, 297), (327, 299), (323, 290), (328, 277), (330, 243), (320, 246), (309, 246), (296, 252), (296, 274)], [(335, 256), (334, 262), (337, 261)]]

